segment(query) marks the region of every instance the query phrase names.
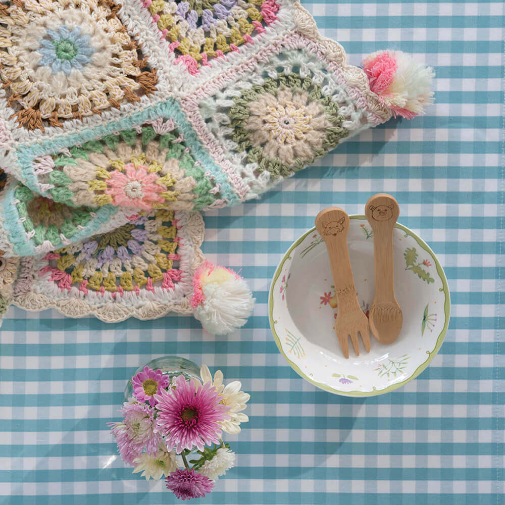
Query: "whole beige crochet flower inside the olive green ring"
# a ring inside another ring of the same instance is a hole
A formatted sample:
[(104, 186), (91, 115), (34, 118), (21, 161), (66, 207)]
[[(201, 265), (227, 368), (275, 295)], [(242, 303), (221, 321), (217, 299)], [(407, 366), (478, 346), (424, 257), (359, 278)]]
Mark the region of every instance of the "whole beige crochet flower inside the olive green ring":
[(311, 160), (331, 126), (325, 108), (311, 102), (307, 91), (280, 89), (277, 96), (266, 93), (250, 104), (249, 111), (245, 129), (253, 132), (254, 145), (263, 146), (264, 156), (288, 165), (295, 158)]

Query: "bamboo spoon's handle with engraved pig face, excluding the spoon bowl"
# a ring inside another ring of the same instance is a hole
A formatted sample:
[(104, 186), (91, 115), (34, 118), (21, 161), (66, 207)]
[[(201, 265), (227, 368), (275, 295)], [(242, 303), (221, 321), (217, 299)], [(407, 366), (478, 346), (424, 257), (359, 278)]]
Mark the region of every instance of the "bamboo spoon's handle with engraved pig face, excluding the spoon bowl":
[(374, 233), (374, 304), (394, 299), (393, 230), (399, 213), (398, 203), (387, 193), (371, 196), (365, 207)]

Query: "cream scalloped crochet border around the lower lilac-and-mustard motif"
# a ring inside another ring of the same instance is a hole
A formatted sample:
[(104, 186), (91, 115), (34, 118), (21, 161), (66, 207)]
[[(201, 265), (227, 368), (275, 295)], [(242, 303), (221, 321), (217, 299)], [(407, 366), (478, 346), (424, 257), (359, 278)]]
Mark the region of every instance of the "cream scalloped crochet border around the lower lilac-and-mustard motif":
[(199, 248), (204, 239), (205, 225), (199, 212), (176, 211), (175, 219), (181, 225), (177, 232), (181, 237), (181, 244), (177, 249), (181, 256), (181, 280), (173, 290), (167, 291), (155, 286), (154, 292), (143, 289), (139, 295), (125, 292), (122, 297), (116, 298), (113, 298), (110, 292), (102, 295), (89, 291), (84, 295), (75, 286), (70, 291), (62, 291), (49, 280), (50, 273), (42, 277), (38, 275), (47, 260), (42, 257), (26, 257), (21, 259), (18, 279), (28, 277), (31, 289), (26, 293), (16, 294), (14, 287), (12, 304), (27, 311), (57, 309), (72, 318), (95, 316), (107, 323), (117, 323), (129, 317), (140, 320), (156, 319), (169, 312), (191, 314), (193, 309), (189, 301), (193, 291), (193, 275), (205, 261)]

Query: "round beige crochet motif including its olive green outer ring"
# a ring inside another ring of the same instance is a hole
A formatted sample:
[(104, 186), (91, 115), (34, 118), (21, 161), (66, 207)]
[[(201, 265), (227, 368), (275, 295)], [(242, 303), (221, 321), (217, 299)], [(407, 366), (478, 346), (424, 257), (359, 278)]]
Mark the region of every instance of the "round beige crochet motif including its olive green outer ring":
[(286, 177), (335, 147), (348, 131), (338, 104), (309, 77), (278, 73), (235, 98), (232, 138), (259, 172)]

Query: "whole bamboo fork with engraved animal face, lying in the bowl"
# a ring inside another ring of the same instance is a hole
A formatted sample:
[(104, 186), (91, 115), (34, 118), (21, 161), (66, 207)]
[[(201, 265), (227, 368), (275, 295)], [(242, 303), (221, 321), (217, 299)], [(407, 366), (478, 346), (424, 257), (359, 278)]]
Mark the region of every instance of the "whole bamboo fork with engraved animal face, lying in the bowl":
[(316, 228), (326, 243), (330, 257), (338, 303), (335, 330), (342, 352), (346, 358), (349, 357), (347, 337), (350, 336), (356, 355), (360, 355), (358, 333), (361, 334), (365, 349), (370, 352), (368, 320), (358, 303), (347, 250), (349, 216), (338, 207), (329, 207), (317, 215)]

